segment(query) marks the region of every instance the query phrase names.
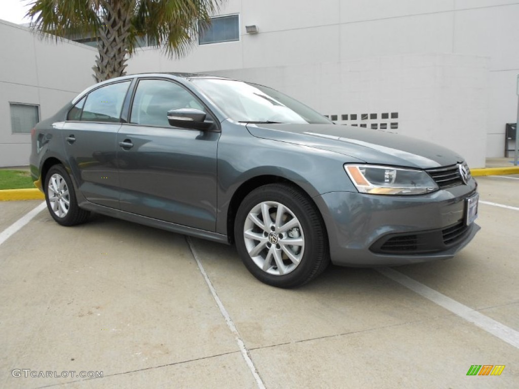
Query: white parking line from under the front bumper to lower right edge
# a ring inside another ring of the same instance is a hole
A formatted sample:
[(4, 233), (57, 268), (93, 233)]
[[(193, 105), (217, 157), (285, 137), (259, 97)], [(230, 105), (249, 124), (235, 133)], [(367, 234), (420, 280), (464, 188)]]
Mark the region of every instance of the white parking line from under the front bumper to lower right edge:
[(494, 335), (495, 337), (519, 349), (519, 331), (501, 324), (494, 319), (491, 319), (490, 317), (467, 307), (467, 305), (463, 305), (462, 303), (453, 300), (452, 298), (441, 294), (439, 291), (431, 289), (430, 287), (419, 283), (418, 281), (415, 281), (412, 278), (409, 278), (407, 275), (402, 274), (396, 270), (390, 268), (377, 268), (375, 270), (377, 270), (380, 274), (385, 275), (389, 279), (398, 282), (400, 285), (413, 290), (420, 296), (440, 305), (447, 311), (450, 311), (455, 315), (464, 318), (468, 322), (473, 323), (477, 327), (487, 331), (489, 334)]

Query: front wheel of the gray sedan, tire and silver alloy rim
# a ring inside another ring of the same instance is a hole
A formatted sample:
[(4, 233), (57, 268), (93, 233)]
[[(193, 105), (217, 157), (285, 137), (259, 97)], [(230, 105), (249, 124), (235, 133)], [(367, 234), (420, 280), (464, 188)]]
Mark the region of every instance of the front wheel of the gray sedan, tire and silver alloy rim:
[(291, 185), (269, 184), (249, 193), (238, 208), (234, 233), (244, 265), (268, 285), (303, 285), (330, 263), (321, 215)]

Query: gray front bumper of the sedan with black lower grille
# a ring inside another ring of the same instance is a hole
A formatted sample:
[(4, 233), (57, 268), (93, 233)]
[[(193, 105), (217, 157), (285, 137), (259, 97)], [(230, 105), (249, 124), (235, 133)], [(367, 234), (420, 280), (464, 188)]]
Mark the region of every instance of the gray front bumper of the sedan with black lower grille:
[(464, 225), (465, 199), (475, 192), (471, 179), (421, 196), (329, 192), (314, 200), (335, 265), (393, 266), (452, 258), (465, 247), (480, 230)]

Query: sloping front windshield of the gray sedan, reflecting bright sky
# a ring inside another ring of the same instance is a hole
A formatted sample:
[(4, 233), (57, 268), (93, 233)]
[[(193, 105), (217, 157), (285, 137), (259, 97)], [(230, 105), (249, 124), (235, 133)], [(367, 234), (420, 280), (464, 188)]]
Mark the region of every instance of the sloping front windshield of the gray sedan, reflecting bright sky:
[(230, 119), (235, 121), (332, 123), (297, 100), (261, 85), (216, 78), (193, 78), (191, 81)]

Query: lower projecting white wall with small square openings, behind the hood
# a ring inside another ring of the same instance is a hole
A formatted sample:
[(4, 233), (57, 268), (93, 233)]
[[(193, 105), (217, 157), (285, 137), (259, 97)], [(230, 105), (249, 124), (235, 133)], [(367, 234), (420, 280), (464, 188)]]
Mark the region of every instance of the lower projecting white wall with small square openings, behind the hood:
[[(380, 124), (381, 131), (427, 140), (459, 152), (470, 166), (485, 165), (488, 59), (473, 55), (422, 54), (342, 62), (215, 71), (267, 84), (337, 115), (338, 124)], [(467, 98), (470, 96), (470, 98)], [(456, 109), (452, 109), (456, 106)], [(381, 119), (383, 113), (398, 118)], [(351, 120), (357, 114), (357, 120)], [(362, 115), (367, 114), (367, 119)], [(370, 119), (376, 114), (376, 119)], [(348, 120), (342, 120), (348, 115)], [(398, 128), (391, 128), (398, 123)], [(362, 131), (359, 128), (359, 131)]]

